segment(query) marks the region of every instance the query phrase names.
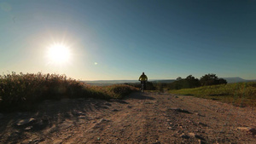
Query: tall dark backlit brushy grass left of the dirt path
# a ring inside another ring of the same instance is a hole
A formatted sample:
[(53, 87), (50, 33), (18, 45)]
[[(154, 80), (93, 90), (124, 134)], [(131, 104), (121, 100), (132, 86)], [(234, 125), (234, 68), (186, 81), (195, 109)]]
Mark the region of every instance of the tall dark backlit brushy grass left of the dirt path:
[(62, 98), (122, 98), (136, 90), (128, 85), (96, 87), (81, 83), (65, 75), (27, 74), (0, 75), (0, 112), (27, 111), (44, 100)]

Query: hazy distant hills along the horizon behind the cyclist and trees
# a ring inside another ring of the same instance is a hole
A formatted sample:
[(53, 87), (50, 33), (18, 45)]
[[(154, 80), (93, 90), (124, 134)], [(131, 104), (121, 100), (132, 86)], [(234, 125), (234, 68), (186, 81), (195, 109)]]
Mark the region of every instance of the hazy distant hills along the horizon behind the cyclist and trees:
[[(234, 77), (234, 78), (224, 78), (227, 80), (228, 83), (239, 83), (239, 82), (256, 82), (256, 79), (254, 80), (247, 80), (239, 77)], [(152, 79), (149, 80), (149, 82), (152, 83), (172, 83), (174, 82), (175, 79)], [(112, 84), (131, 84), (131, 83), (140, 83), (137, 80), (96, 80), (96, 81), (81, 81), (84, 82), (85, 84), (90, 84), (90, 85), (112, 85)]]

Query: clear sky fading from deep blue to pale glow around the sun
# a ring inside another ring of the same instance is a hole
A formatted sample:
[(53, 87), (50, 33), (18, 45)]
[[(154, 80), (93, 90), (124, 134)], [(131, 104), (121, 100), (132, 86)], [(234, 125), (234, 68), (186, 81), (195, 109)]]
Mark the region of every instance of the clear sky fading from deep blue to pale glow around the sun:
[(256, 79), (256, 1), (0, 0), (0, 72)]

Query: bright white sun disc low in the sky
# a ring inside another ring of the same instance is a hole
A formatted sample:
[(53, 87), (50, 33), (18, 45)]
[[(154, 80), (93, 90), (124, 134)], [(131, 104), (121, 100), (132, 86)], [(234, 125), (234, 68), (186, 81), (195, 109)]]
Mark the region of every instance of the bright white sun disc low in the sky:
[(54, 43), (49, 46), (47, 55), (50, 63), (66, 64), (70, 60), (71, 52), (67, 45), (63, 43)]

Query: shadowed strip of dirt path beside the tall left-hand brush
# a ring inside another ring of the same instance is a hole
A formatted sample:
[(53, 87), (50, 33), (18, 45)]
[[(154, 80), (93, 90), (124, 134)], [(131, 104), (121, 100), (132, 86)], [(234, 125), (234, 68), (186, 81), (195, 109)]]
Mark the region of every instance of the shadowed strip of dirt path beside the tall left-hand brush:
[[(43, 101), (34, 112), (5, 113), (0, 119), (0, 143), (19, 143), (27, 135), (37, 135), (38, 141), (44, 141), (44, 131), (54, 133), (66, 130), (73, 125), (101, 118), (101, 113), (113, 112), (112, 102), (128, 104), (125, 100), (154, 100), (147, 93), (132, 93), (123, 100), (110, 101), (98, 99), (62, 99), (61, 101)], [(20, 121), (30, 121), (19, 125)]]

